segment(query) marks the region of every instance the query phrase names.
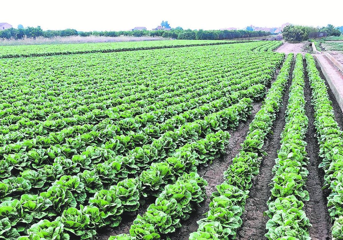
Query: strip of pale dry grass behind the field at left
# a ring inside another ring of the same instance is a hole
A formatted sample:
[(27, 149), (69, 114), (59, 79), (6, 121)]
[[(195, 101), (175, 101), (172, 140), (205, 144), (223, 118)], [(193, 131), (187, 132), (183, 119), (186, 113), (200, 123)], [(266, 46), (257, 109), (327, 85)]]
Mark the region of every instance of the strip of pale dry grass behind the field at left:
[(169, 40), (164, 37), (105, 37), (105, 36), (69, 36), (69, 37), (37, 37), (37, 38), (23, 38), (23, 39), (0, 39), (0, 46), (9, 45), (36, 45), (36, 44), (63, 44), (63, 43), (107, 43), (107, 42), (129, 42), (129, 41), (151, 41), (151, 40)]

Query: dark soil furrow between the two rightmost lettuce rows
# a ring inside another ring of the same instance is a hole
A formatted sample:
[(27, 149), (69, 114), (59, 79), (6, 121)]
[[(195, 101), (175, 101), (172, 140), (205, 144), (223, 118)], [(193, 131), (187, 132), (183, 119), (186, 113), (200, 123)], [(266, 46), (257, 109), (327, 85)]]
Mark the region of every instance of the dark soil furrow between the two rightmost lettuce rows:
[[(304, 61), (304, 70), (306, 70), (306, 61)], [(314, 126), (314, 108), (311, 105), (312, 89), (310, 88), (307, 71), (305, 71), (305, 100), (306, 100), (306, 115), (308, 117), (308, 131), (305, 141), (307, 142), (306, 152), (309, 157), (307, 170), (309, 172), (307, 179), (307, 191), (310, 195), (310, 200), (305, 202), (306, 216), (309, 218), (312, 227), (309, 229), (309, 234), (312, 240), (331, 239), (331, 223), (330, 216), (327, 210), (327, 191), (322, 191), (321, 187), (324, 180), (324, 172), (318, 168), (321, 160), (318, 158), (319, 146), (315, 136), (316, 129)], [(340, 109), (340, 108), (339, 108)]]

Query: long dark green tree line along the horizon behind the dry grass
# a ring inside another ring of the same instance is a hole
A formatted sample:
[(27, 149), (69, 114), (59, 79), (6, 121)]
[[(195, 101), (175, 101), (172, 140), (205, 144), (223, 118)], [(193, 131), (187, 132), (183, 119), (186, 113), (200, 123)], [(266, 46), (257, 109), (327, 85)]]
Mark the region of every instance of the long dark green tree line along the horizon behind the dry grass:
[(125, 36), (161, 36), (166, 38), (174, 39), (201, 39), (201, 40), (219, 40), (219, 39), (233, 39), (241, 38), (243, 35), (249, 35), (249, 37), (261, 37), (268, 36), (269, 32), (263, 31), (247, 31), (247, 30), (183, 30), (181, 27), (173, 28), (169, 31), (157, 30), (136, 30), (136, 31), (92, 31), (82, 32), (76, 31), (75, 29), (64, 29), (64, 30), (47, 30), (43, 31), (40, 26), (38, 27), (26, 27), (26, 28), (9, 28), (0, 31), (0, 38), (6, 39), (22, 39), (24, 37), (36, 38), (36, 37), (66, 37), (66, 36), (108, 36), (117, 37), (121, 35)]

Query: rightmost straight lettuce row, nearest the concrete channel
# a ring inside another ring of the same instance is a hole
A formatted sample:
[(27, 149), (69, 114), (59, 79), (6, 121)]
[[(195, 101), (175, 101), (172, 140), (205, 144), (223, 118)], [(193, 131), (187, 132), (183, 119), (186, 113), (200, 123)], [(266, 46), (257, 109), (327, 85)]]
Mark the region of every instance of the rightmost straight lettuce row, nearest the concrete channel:
[(335, 121), (328, 89), (316, 68), (316, 62), (306, 54), (307, 72), (312, 88), (311, 104), (314, 106), (315, 127), (319, 144), (319, 165), (325, 172), (324, 189), (330, 189), (328, 209), (334, 221), (332, 240), (343, 239), (343, 132)]

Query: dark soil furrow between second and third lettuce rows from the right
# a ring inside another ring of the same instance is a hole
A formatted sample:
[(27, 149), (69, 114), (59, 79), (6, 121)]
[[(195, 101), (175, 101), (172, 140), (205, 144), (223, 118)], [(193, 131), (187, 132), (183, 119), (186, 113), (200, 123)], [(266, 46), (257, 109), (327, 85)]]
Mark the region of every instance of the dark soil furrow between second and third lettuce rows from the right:
[[(293, 60), (291, 73), (294, 69), (295, 60)], [(263, 212), (268, 210), (267, 201), (270, 196), (269, 183), (273, 177), (272, 168), (275, 165), (275, 158), (277, 158), (277, 149), (280, 148), (280, 134), (285, 125), (285, 110), (288, 103), (289, 86), (292, 81), (292, 74), (290, 74), (286, 91), (282, 100), (282, 107), (277, 113), (276, 120), (273, 124), (273, 135), (269, 134), (267, 141), (264, 144), (264, 151), (268, 153), (262, 159), (260, 173), (252, 180), (252, 187), (250, 189), (249, 197), (246, 201), (245, 211), (241, 216), (243, 225), (237, 234), (238, 240), (260, 240), (264, 239), (265, 224), (268, 221), (268, 216), (263, 216)]]

